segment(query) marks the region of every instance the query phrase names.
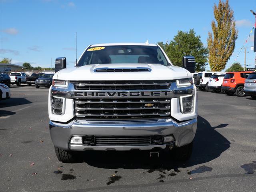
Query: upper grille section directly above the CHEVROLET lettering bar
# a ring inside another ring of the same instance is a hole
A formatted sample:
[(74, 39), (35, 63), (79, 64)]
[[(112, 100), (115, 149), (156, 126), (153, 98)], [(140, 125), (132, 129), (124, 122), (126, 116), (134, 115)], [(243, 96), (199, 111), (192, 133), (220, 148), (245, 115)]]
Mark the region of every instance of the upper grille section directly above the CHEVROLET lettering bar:
[(79, 81), (71, 82), (76, 90), (161, 90), (170, 88), (170, 80)]

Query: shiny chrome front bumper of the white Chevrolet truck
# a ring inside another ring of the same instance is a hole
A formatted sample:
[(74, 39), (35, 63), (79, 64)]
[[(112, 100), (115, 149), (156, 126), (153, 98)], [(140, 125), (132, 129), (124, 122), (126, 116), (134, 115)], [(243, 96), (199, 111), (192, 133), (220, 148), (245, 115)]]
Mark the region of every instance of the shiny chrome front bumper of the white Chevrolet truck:
[(175, 138), (175, 146), (189, 144), (194, 139), (197, 119), (175, 122), (172, 119), (140, 121), (87, 121), (73, 120), (68, 124), (50, 121), (50, 135), (54, 146), (64, 150), (152, 150), (165, 149), (168, 144), (147, 146), (96, 146), (70, 144), (72, 136), (168, 136)]

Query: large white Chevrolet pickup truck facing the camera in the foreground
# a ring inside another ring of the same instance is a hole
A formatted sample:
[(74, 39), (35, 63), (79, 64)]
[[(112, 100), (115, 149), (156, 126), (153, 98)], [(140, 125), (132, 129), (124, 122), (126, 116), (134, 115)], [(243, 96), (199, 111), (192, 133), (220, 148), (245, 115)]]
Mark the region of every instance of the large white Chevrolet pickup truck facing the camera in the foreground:
[[(194, 70), (194, 60), (184, 56), (184, 66)], [(94, 44), (75, 67), (66, 68), (66, 58), (55, 65), (62, 70), (53, 76), (48, 113), (58, 160), (74, 162), (85, 150), (166, 150), (172, 158), (190, 158), (196, 87), (160, 46)]]

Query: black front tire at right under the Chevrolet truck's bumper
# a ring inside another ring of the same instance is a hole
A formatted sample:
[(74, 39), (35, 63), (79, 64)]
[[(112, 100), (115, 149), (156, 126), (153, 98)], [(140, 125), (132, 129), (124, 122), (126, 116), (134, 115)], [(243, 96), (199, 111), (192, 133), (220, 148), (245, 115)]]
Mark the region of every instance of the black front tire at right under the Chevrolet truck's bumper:
[(173, 157), (175, 160), (187, 161), (187, 160), (189, 160), (189, 158), (192, 154), (192, 149), (193, 149), (193, 142), (191, 142), (190, 144), (187, 144), (185, 146), (175, 148), (173, 150), (172, 154), (173, 154)]

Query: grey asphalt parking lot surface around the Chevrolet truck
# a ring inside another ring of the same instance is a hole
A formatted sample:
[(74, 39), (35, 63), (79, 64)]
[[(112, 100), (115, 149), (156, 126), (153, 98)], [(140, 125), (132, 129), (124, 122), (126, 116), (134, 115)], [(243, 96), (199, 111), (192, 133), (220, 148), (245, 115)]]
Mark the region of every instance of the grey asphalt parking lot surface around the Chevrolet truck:
[(48, 88), (12, 86), (0, 101), (0, 191), (255, 191), (256, 100), (199, 95), (189, 162), (148, 152), (86, 152), (64, 164), (48, 130)]

